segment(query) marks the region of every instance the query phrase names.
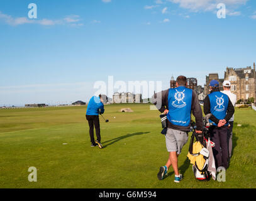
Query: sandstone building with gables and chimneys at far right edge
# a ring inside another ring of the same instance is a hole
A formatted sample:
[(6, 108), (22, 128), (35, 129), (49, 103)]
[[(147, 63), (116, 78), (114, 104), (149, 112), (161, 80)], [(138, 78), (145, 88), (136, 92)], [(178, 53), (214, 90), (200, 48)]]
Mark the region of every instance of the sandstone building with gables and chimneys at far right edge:
[(237, 95), (237, 100), (256, 99), (255, 63), (252, 67), (226, 68), (225, 80), (231, 82), (231, 92)]

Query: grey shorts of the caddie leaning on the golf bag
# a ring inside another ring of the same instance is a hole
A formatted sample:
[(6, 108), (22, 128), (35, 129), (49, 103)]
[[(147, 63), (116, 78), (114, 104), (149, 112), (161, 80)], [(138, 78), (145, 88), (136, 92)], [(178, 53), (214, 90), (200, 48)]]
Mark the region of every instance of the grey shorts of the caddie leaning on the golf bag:
[(187, 132), (168, 128), (165, 135), (167, 151), (177, 151), (177, 155), (179, 155), (182, 147), (187, 143), (187, 139), (189, 139)]

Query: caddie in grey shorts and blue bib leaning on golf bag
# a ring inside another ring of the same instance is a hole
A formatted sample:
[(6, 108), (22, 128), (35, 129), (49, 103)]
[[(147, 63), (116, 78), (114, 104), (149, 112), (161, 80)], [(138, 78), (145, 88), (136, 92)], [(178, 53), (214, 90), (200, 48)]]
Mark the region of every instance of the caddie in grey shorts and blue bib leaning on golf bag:
[[(198, 96), (192, 89), (187, 89), (187, 78), (177, 77), (175, 89), (167, 89), (154, 94), (152, 103), (157, 106), (160, 112), (167, 114), (167, 133), (165, 143), (169, 158), (165, 166), (161, 166), (157, 177), (162, 180), (169, 167), (174, 169), (174, 182), (179, 183), (182, 175), (178, 170), (178, 156), (182, 147), (187, 143), (188, 132), (191, 127), (191, 111), (196, 117), (196, 133), (203, 131), (203, 114), (199, 104)], [(160, 104), (159, 104), (160, 102)]]

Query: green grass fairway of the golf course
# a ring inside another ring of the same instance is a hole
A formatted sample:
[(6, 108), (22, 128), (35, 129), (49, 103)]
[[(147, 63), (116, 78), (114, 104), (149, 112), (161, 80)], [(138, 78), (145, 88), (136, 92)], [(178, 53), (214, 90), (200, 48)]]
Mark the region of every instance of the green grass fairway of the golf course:
[[(86, 106), (0, 110), (0, 188), (256, 188), (256, 111), (235, 112), (226, 182), (196, 181), (187, 143), (179, 156), (184, 180), (174, 183), (172, 168), (157, 178), (168, 157), (160, 112), (149, 104), (105, 109), (109, 122), (99, 117), (104, 149), (91, 147)], [(28, 182), (30, 166), (37, 168), (37, 182)]]

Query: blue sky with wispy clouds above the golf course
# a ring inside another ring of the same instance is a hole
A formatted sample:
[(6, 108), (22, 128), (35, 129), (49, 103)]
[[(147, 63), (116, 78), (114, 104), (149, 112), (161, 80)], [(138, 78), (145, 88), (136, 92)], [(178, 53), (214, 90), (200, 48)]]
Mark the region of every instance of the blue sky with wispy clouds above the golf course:
[(0, 106), (88, 101), (109, 76), (110, 92), (179, 75), (204, 85), (256, 62), (255, 33), (253, 0), (1, 0)]

